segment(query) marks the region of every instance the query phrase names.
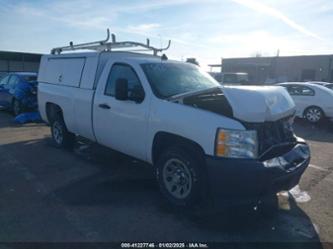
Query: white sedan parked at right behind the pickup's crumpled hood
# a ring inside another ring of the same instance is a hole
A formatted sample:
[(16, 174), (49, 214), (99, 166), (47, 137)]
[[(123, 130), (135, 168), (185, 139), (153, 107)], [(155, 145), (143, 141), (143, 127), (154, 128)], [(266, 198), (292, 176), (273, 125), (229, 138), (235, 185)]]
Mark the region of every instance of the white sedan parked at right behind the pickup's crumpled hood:
[(288, 82), (278, 84), (287, 89), (296, 104), (296, 116), (311, 123), (323, 118), (333, 119), (333, 91), (314, 83)]

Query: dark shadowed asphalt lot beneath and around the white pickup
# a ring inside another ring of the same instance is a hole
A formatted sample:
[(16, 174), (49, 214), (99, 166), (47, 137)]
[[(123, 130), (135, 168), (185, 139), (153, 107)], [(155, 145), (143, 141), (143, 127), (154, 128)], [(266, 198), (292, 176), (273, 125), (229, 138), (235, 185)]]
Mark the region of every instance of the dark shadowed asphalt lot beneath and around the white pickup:
[(0, 242), (332, 242), (333, 124), (294, 129), (311, 165), (274, 217), (256, 208), (198, 216), (165, 203), (151, 167), (89, 143), (57, 149), (46, 125), (0, 112)]

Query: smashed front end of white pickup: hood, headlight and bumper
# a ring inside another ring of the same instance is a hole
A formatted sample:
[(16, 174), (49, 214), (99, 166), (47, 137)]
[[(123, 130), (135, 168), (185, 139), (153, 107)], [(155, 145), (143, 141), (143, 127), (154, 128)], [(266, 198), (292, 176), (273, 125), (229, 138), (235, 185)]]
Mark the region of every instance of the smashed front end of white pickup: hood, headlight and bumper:
[[(169, 100), (229, 117), (245, 128), (219, 129), (215, 156), (206, 156), (210, 189), (218, 203), (259, 201), (298, 184), (310, 150), (294, 134), (295, 104), (283, 88), (216, 87)], [(243, 133), (250, 134), (246, 141), (241, 141)], [(251, 146), (253, 153), (242, 152)]]

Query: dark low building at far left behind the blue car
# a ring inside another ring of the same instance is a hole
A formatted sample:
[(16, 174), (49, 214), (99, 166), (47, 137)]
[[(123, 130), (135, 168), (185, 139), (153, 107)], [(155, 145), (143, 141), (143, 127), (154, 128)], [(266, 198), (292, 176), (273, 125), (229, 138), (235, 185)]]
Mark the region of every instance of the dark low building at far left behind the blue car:
[(8, 72), (38, 72), (41, 54), (0, 51), (0, 77)]

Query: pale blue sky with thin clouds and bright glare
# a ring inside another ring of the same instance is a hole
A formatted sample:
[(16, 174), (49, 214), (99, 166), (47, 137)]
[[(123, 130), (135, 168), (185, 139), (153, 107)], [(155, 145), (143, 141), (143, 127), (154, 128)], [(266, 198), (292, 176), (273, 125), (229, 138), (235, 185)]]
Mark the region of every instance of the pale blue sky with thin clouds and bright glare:
[(0, 50), (48, 53), (102, 39), (172, 46), (169, 57), (333, 53), (332, 0), (0, 0)]

